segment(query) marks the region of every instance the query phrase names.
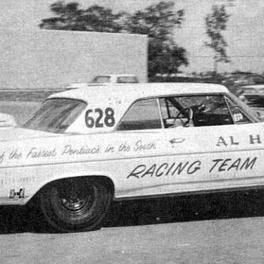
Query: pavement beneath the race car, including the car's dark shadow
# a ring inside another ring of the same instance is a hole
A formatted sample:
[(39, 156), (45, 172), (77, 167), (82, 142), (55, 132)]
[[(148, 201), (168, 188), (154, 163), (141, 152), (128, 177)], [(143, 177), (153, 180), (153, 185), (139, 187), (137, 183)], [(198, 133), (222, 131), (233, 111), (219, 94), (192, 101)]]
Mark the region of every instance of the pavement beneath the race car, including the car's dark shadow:
[(40, 229), (21, 208), (1, 208), (0, 263), (264, 263), (262, 197), (258, 191), (115, 203), (100, 230), (71, 234)]

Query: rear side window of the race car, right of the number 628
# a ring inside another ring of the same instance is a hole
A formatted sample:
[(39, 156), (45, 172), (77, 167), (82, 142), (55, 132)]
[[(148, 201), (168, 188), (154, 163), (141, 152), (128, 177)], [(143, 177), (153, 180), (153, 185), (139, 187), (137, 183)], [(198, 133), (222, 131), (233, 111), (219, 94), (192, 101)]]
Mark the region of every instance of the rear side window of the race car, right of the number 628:
[(161, 129), (157, 99), (135, 102), (122, 118), (117, 130)]

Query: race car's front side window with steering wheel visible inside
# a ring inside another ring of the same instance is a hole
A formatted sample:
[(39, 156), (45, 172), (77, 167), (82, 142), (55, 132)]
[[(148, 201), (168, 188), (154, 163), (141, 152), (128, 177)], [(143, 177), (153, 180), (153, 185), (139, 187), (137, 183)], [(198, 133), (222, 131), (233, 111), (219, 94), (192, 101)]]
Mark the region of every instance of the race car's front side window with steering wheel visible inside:
[(223, 95), (175, 96), (159, 102), (165, 128), (234, 124)]

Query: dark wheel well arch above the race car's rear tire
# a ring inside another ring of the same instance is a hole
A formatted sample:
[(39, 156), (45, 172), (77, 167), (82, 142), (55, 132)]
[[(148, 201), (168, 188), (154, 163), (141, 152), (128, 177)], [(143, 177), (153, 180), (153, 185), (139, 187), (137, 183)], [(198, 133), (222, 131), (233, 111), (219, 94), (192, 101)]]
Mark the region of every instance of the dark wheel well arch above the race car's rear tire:
[(76, 179), (76, 178), (83, 178), (83, 177), (86, 177), (86, 178), (89, 178), (89, 180), (91, 181), (99, 181), (101, 184), (104, 184), (105, 186), (107, 186), (107, 188), (109, 188), (109, 190), (111, 191), (111, 195), (114, 195), (114, 192), (115, 192), (115, 186), (113, 184), (113, 181), (107, 177), (107, 176), (97, 176), (97, 175), (92, 175), (92, 176), (76, 176), (76, 177), (67, 177), (67, 178), (61, 178), (61, 179), (56, 179), (54, 181), (50, 181), (48, 182), (47, 184), (45, 184), (44, 186), (42, 186), (38, 192), (36, 192), (36, 194), (30, 199), (30, 201), (28, 201), (28, 206), (31, 207), (31, 206), (34, 206), (34, 202), (36, 201), (36, 199), (38, 199), (39, 197), (39, 194), (45, 190), (45, 188), (49, 188), (49, 186), (51, 186), (52, 184), (56, 184), (60, 181), (63, 181), (65, 179), (69, 179), (69, 178), (72, 178), (72, 179)]

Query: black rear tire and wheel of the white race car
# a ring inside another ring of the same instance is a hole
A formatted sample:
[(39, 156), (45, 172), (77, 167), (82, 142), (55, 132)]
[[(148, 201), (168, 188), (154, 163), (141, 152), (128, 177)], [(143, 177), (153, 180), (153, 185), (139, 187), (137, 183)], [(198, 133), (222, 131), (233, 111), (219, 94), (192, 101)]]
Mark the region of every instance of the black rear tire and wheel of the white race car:
[(57, 231), (89, 231), (100, 225), (112, 196), (110, 188), (95, 178), (63, 179), (41, 191), (40, 209)]

